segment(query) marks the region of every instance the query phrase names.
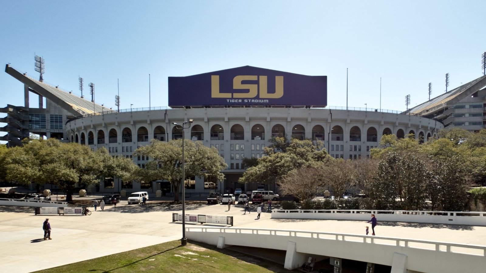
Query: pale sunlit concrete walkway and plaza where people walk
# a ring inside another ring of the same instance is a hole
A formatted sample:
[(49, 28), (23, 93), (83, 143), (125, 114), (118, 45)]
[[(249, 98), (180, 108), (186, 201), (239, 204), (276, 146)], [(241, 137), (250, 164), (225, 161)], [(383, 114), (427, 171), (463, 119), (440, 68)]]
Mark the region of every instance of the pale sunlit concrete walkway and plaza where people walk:
[[(122, 201), (116, 209), (107, 205), (104, 211), (98, 207), (90, 216), (36, 216), (33, 208), (0, 206), (0, 272), (33, 272), (181, 239), (182, 224), (172, 223), (172, 213), (181, 213), (181, 205), (126, 204)], [(242, 205), (233, 205), (229, 211), (227, 208), (186, 205), (186, 213), (233, 216), (235, 226), (249, 228), (364, 234), (366, 225), (356, 221), (271, 219), (270, 213), (262, 213), (257, 220), (256, 206), (246, 215)], [(50, 219), (52, 240), (42, 239), (45, 218)], [(383, 237), (486, 245), (484, 226), (378, 221), (375, 231)]]

